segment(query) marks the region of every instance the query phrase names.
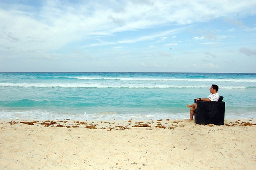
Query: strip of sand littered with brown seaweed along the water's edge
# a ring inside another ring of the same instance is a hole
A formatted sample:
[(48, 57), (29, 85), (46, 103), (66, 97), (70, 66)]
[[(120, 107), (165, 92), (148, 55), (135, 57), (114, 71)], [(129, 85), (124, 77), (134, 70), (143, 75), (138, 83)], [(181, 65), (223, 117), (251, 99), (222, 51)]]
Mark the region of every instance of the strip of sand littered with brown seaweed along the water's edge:
[[(43, 127), (66, 127), (66, 128), (90, 128), (90, 129), (106, 129), (115, 128), (115, 126), (125, 126), (127, 128), (138, 128), (138, 127), (148, 127), (148, 128), (167, 128), (167, 126), (174, 126), (173, 124), (194, 124), (195, 126), (203, 126), (200, 124), (195, 124), (194, 120), (188, 122), (188, 119), (160, 119), (160, 120), (71, 120), (71, 119), (0, 119), (0, 125), (2, 124), (27, 124), (36, 125)], [(142, 126), (145, 125), (145, 126)], [(147, 125), (147, 126), (146, 126)], [(251, 126), (256, 125), (256, 118), (241, 118), (241, 119), (225, 119), (224, 125), (220, 126)], [(94, 126), (87, 127), (87, 126)], [(214, 124), (208, 124), (204, 126), (218, 126)], [(172, 128), (171, 128), (172, 129)]]

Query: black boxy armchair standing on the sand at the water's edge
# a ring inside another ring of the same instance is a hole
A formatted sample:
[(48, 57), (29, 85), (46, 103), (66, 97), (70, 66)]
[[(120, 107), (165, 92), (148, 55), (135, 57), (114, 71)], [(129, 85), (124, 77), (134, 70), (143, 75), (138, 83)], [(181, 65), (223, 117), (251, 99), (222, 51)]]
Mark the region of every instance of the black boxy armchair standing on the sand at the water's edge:
[(194, 118), (196, 124), (224, 125), (225, 102), (220, 96), (218, 102), (197, 101)]

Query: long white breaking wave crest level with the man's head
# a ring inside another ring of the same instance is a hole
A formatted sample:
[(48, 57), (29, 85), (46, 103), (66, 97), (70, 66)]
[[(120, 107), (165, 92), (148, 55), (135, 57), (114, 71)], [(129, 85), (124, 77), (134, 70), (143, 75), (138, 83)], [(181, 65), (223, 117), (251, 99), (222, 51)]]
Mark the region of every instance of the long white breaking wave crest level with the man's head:
[[(159, 84), (96, 84), (96, 83), (0, 83), (2, 87), (36, 87), (36, 88), (208, 88), (208, 86), (175, 86)], [(246, 86), (223, 86), (222, 89), (246, 89)]]

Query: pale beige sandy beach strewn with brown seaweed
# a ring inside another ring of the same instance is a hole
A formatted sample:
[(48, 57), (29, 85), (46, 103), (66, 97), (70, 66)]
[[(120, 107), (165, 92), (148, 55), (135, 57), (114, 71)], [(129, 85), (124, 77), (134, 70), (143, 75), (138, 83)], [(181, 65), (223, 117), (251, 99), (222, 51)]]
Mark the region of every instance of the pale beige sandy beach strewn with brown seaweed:
[(0, 169), (252, 170), (255, 125), (256, 119), (225, 120), (223, 126), (186, 120), (0, 120)]

